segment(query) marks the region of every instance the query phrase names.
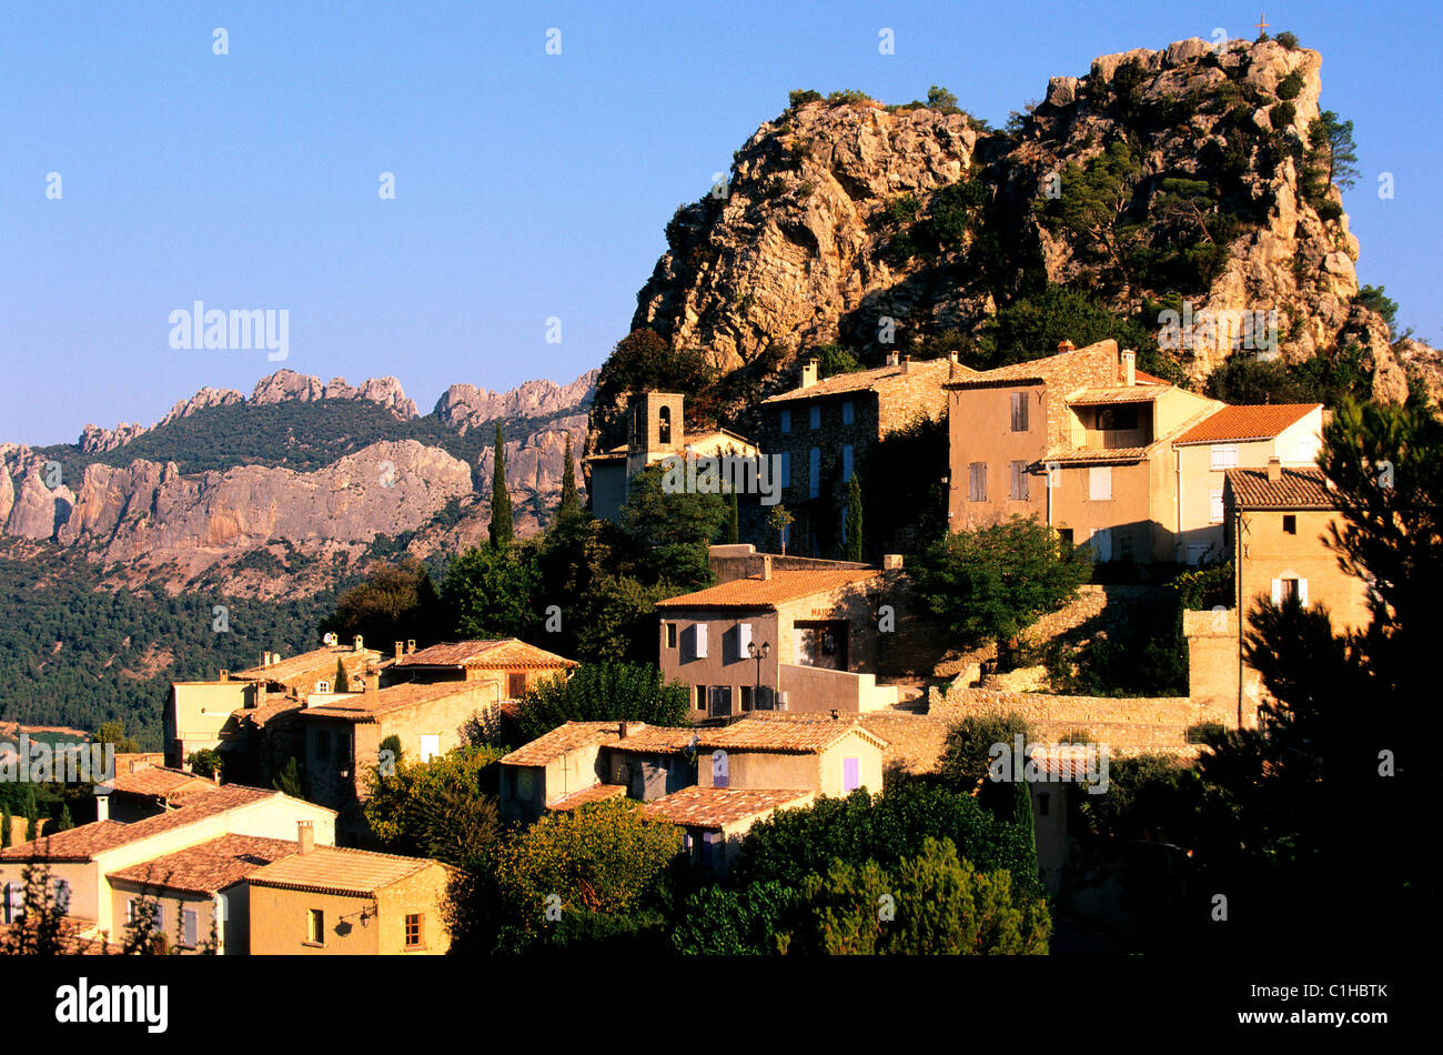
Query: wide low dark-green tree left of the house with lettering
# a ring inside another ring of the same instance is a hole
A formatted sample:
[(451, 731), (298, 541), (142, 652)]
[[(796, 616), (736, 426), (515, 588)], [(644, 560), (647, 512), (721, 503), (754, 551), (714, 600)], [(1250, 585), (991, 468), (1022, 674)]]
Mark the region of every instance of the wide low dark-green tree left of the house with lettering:
[(645, 722), (685, 726), (691, 694), (681, 681), (664, 681), (655, 664), (589, 662), (570, 678), (547, 678), (527, 690), (517, 717), (524, 740), (567, 722)]

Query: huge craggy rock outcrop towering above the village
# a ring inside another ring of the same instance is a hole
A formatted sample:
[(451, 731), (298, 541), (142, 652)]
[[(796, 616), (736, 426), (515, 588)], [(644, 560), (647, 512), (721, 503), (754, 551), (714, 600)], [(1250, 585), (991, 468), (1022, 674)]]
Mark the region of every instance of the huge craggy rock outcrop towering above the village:
[[(1234, 40), (1219, 52), (1190, 39), (1052, 78), (1009, 133), (957, 111), (870, 101), (788, 110), (734, 154), (724, 193), (677, 211), (632, 326), (776, 387), (784, 375), (791, 382), (804, 349), (831, 341), (877, 362), (945, 330), (978, 338), (1025, 280), (1045, 280), (1091, 289), (1123, 316), (1170, 296), (1232, 320), (1232, 332), (1196, 328), (1177, 352), (1193, 380), (1227, 358), (1242, 312), (1264, 319), (1276, 310), (1284, 358), (1359, 341), (1375, 397), (1397, 400), (1407, 368), (1381, 316), (1358, 303), (1359, 247), (1339, 191), (1306, 191), (1320, 69), (1319, 53), (1303, 48)], [(1062, 173), (1098, 167), (1114, 143), (1131, 144), (1136, 166), (1115, 215), (1095, 228), (1039, 219), (1049, 196), (1068, 195)], [(1208, 196), (1211, 227), (1176, 180)], [(937, 192), (949, 185), (977, 192), (965, 234), (932, 251), (898, 251), (909, 215), (934, 215)], [(1123, 240), (1134, 238), (1143, 253), (1124, 257)], [(1176, 274), (1149, 276), (1137, 263), (1179, 260), (1179, 247), (1193, 244), (1206, 267), (1183, 261)], [(740, 403), (723, 410), (745, 414)], [(615, 411), (597, 407), (593, 420)]]

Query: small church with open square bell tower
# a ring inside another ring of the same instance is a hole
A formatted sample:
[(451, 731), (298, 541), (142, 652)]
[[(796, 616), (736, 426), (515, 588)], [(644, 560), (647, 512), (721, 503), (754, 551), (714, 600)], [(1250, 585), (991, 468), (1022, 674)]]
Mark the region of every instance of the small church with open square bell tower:
[(685, 397), (680, 393), (632, 393), (626, 406), (626, 443), (582, 459), (592, 515), (616, 522), (632, 476), (664, 458), (755, 459), (756, 446), (726, 429), (685, 430)]

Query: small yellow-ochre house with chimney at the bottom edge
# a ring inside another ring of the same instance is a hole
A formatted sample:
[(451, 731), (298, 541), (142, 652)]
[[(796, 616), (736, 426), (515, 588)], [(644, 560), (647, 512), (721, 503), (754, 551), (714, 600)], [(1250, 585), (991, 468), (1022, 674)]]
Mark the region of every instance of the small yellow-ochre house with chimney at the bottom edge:
[(426, 857), (315, 846), (253, 872), (253, 955), (440, 955), (449, 870)]

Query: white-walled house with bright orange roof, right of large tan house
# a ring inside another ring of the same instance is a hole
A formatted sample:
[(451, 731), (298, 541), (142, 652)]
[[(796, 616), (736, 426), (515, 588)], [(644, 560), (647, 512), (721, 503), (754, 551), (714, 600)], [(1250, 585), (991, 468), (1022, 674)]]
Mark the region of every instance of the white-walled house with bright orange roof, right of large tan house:
[(1188, 564), (1219, 560), (1225, 547), (1222, 492), (1228, 469), (1313, 468), (1322, 447), (1322, 403), (1224, 407), (1173, 442), (1177, 554)]

